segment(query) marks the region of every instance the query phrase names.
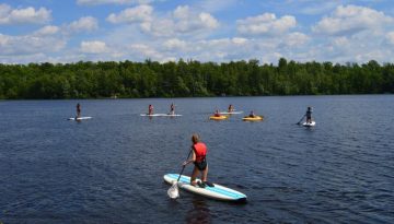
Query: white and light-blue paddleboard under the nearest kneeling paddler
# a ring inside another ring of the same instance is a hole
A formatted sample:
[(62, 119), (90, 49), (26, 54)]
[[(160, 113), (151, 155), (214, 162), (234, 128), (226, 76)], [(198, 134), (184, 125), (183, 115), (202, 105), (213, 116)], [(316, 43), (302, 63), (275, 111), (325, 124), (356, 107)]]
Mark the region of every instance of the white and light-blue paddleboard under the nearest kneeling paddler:
[[(164, 180), (173, 185), (177, 178), (179, 177), (178, 174), (166, 174), (164, 175)], [(197, 179), (197, 181), (200, 181)], [(187, 190), (193, 193), (197, 193), (200, 196), (205, 196), (211, 199), (217, 199), (221, 201), (246, 201), (246, 196), (240, 191), (223, 187), (218, 184), (213, 184), (215, 187), (200, 188), (198, 186), (190, 185), (190, 177), (182, 175), (178, 181), (178, 188)]]

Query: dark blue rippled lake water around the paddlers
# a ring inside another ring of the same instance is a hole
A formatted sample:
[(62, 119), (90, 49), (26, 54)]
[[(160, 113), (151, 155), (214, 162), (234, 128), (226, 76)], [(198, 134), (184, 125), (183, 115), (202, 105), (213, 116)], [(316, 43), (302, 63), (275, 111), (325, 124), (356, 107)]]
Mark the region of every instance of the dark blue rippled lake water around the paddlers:
[[(93, 119), (66, 120), (78, 102)], [(139, 116), (172, 102), (183, 117)], [(208, 120), (229, 104), (265, 120)], [(3, 101), (0, 223), (394, 223), (393, 114), (393, 95)], [(247, 203), (167, 197), (194, 132)]]

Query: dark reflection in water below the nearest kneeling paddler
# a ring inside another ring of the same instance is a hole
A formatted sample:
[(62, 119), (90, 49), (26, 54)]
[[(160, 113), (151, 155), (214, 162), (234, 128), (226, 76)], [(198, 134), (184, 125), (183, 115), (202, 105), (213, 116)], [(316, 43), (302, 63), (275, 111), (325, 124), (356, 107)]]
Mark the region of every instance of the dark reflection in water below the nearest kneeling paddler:
[(192, 200), (193, 200), (193, 208), (189, 211), (187, 211), (185, 222), (188, 224), (212, 223), (211, 220), (212, 217), (206, 199), (199, 196), (194, 196)]

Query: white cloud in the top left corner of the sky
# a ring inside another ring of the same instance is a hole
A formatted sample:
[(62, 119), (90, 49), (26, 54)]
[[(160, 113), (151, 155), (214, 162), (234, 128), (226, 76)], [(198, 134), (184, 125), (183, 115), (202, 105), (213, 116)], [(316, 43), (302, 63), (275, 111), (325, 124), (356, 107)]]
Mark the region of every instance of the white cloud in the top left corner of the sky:
[(50, 11), (45, 8), (39, 8), (38, 10), (32, 7), (12, 9), (8, 4), (0, 4), (0, 25), (45, 24), (50, 20)]

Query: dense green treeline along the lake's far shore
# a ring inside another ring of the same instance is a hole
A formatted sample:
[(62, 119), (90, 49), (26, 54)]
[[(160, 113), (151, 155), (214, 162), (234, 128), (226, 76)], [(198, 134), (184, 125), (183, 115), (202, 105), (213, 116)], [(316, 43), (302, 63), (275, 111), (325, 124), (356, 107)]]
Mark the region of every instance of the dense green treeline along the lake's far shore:
[(186, 97), (394, 93), (394, 64), (279, 59), (0, 64), (0, 98)]

